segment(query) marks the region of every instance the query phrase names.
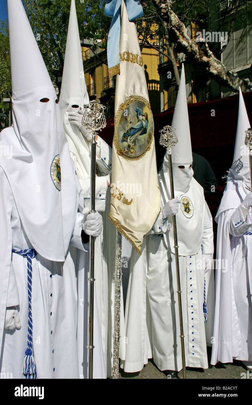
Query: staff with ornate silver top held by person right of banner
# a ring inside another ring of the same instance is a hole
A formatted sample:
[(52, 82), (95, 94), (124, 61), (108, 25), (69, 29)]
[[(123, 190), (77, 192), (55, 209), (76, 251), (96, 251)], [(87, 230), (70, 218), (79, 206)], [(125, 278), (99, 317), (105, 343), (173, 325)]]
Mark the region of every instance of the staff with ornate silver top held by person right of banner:
[[(175, 135), (175, 128), (169, 125), (163, 127), (160, 137), (160, 144), (167, 148), (168, 162), (169, 162), (169, 177), (171, 188), (171, 199), (174, 198), (174, 182), (172, 173), (172, 146), (176, 145), (178, 139)], [(180, 322), (180, 341), (181, 341), (181, 356), (182, 356), (182, 370), (183, 378), (186, 379), (186, 359), (184, 351), (184, 330), (183, 330), (183, 317), (182, 317), (182, 303), (181, 303), (181, 288), (180, 288), (180, 273), (179, 273), (179, 260), (178, 260), (178, 236), (176, 216), (172, 216), (173, 222), (173, 235), (174, 235), (174, 249), (175, 249), (175, 262), (176, 262), (176, 276), (177, 276), (177, 293), (178, 293), (178, 309), (179, 309), (179, 322)]]

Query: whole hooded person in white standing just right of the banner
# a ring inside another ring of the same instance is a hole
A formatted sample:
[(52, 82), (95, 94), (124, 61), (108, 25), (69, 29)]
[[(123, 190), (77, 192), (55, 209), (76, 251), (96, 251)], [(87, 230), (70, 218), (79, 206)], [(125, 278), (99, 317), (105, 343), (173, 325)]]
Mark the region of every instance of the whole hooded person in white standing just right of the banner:
[[(184, 67), (172, 127), (176, 128), (178, 137), (177, 145), (172, 148), (172, 165), (174, 193), (180, 200), (176, 222), (186, 366), (208, 368), (202, 254), (213, 254), (212, 217), (203, 188), (193, 178), (190, 167), (193, 159)], [(178, 165), (183, 165), (184, 169)], [(159, 185), (163, 206), (171, 198), (167, 154), (159, 172)], [(206, 295), (211, 275), (208, 273)], [(211, 279), (213, 283), (212, 276)], [(212, 305), (209, 303), (208, 309)], [(121, 366), (126, 372), (141, 370), (152, 357), (161, 371), (182, 369), (172, 217), (163, 221), (159, 215), (150, 234), (144, 238), (142, 255), (132, 252), (125, 328), (126, 356)], [(211, 336), (211, 330), (208, 334)]]

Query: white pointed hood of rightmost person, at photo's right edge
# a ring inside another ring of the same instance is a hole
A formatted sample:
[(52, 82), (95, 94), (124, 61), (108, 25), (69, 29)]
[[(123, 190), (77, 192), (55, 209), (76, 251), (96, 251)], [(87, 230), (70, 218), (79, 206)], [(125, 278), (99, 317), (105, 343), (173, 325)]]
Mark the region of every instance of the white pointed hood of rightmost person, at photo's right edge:
[(239, 88), (239, 110), (233, 163), (229, 170), (227, 185), (215, 217), (216, 222), (218, 222), (218, 215), (220, 215), (222, 211), (237, 208), (250, 192), (249, 156), (248, 148), (245, 145), (245, 131), (248, 128), (250, 128), (250, 122), (248, 120), (241, 88)]

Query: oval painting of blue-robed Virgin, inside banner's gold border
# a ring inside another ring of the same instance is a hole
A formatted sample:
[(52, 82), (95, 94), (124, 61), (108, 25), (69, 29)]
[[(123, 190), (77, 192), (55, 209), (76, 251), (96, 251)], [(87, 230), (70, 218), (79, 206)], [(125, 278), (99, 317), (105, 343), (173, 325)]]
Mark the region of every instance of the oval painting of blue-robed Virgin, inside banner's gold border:
[(131, 158), (142, 155), (152, 140), (153, 129), (152, 112), (146, 103), (140, 100), (130, 102), (119, 119), (119, 147)]

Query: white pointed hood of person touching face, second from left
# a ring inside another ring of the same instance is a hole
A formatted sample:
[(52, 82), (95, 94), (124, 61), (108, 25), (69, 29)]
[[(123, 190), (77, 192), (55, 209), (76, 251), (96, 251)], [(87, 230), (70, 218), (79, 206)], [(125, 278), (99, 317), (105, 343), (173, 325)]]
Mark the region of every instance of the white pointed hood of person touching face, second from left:
[(89, 104), (89, 96), (87, 94), (87, 86), (83, 70), (75, 0), (72, 0), (59, 107), (69, 143), (70, 153), (74, 159), (76, 167), (78, 168), (79, 179), (85, 178), (86, 173), (90, 175), (89, 144), (79, 128), (74, 124), (70, 124), (68, 114), (72, 112), (77, 113), (79, 107), (83, 109), (84, 104)]

